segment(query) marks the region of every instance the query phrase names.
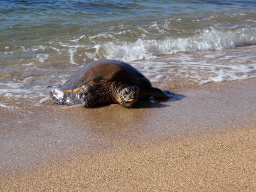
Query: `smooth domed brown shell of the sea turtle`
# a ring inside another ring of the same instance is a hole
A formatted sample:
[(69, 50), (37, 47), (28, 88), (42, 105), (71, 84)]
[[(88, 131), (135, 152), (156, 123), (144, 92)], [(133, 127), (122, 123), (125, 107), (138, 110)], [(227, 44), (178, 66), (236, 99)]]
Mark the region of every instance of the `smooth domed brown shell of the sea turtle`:
[(82, 87), (108, 82), (123, 82), (139, 88), (151, 87), (150, 81), (137, 69), (123, 61), (100, 60), (89, 63), (75, 73), (63, 86), (63, 92), (80, 92)]

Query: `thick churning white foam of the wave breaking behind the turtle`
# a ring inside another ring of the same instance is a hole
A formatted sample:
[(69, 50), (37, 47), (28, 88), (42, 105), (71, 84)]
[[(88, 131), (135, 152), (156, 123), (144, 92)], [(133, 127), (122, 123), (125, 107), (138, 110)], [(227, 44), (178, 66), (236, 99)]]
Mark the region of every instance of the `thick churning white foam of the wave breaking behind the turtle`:
[[(156, 27), (156, 25), (152, 26)], [(106, 59), (135, 61), (138, 59), (152, 59), (163, 54), (214, 51), (255, 43), (256, 28), (218, 30), (212, 27), (187, 38), (166, 37), (162, 40), (139, 38), (135, 42), (104, 42), (97, 45), (94, 55), (100, 55), (100, 57)], [(94, 59), (92, 56), (93, 54), (90, 52), (90, 59)]]

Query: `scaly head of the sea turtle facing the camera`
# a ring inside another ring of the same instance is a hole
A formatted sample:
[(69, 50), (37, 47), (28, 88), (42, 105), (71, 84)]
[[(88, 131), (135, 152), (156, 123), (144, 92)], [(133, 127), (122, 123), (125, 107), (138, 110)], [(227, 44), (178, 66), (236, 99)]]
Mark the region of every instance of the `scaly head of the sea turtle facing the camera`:
[(132, 108), (134, 104), (139, 100), (139, 88), (135, 86), (127, 86), (121, 88), (117, 93), (117, 102), (127, 108)]

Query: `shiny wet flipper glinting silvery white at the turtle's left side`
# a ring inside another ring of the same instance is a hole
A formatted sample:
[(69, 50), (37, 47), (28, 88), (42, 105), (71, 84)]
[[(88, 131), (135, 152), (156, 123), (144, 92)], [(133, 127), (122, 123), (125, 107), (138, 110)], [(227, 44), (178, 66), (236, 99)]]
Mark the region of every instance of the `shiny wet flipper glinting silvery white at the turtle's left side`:
[(63, 92), (59, 88), (52, 88), (50, 91), (51, 98), (57, 104), (84, 104), (84, 93), (82, 92)]

